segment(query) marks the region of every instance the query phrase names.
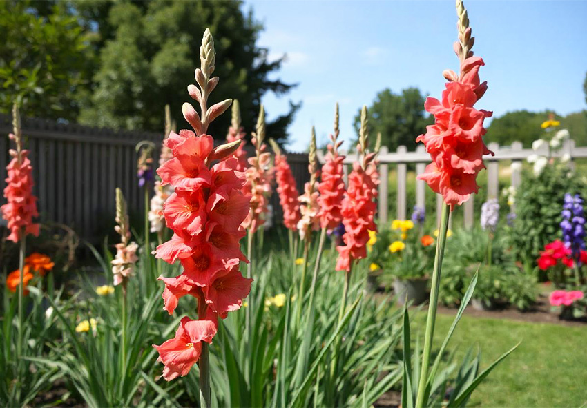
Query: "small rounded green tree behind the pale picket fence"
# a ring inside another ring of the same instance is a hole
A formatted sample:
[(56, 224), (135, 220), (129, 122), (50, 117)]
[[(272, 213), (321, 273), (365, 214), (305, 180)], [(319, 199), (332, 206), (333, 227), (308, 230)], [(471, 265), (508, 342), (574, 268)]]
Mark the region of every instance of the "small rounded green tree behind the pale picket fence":
[[(369, 113), (369, 133), (381, 132), (381, 145), (396, 150), (400, 145), (408, 150), (416, 148), (416, 137), (425, 133), (426, 126), (434, 123), (434, 118), (424, 110), (425, 96), (418, 88), (407, 88), (401, 93), (393, 93), (386, 88), (377, 94)], [(360, 110), (355, 116), (354, 127), (358, 135)], [(371, 147), (376, 137), (370, 137)]]

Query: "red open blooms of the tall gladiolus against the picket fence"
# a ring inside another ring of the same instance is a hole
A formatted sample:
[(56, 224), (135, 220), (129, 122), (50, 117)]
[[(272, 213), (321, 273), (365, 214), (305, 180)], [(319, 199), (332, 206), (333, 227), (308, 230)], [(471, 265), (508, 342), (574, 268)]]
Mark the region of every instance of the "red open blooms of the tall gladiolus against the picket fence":
[[(460, 47), (459, 43), (457, 46)], [(434, 115), (434, 124), (426, 126), (427, 133), (416, 138), (416, 142), (425, 144), (432, 157), (432, 163), (418, 179), (443, 195), (451, 211), (479, 191), (476, 180), (485, 168), (483, 155), (493, 155), (482, 139), (486, 132), (483, 120), (492, 113), (473, 107), (487, 90), (487, 83), (480, 84), (479, 80), (479, 67), (485, 64), (480, 57), (469, 54), (461, 61), (460, 77), (445, 71), (450, 82), (445, 85), (442, 101), (426, 99), (424, 107)]]

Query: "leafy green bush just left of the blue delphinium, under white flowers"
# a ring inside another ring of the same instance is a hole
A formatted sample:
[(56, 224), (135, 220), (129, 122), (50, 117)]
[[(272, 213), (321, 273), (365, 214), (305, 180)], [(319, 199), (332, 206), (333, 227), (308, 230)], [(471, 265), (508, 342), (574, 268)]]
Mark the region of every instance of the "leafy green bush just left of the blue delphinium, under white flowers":
[(561, 235), (561, 211), (565, 193), (586, 188), (566, 166), (551, 164), (539, 175), (525, 172), (516, 195), (516, 214), (511, 239), (518, 260), (535, 264), (544, 245)]

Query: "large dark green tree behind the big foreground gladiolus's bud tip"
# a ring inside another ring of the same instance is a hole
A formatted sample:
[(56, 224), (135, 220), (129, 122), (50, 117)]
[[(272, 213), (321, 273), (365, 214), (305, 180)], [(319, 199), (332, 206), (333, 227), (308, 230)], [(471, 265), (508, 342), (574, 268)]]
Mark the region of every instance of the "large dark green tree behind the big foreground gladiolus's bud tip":
[[(86, 26), (104, 31), (99, 38), (99, 68), (91, 98), (81, 110), (85, 124), (115, 128), (161, 130), (163, 108), (170, 104), (180, 127), (186, 123), (181, 106), (189, 101), (186, 84), (195, 83), (200, 64), (200, 42), (206, 27), (215, 37), (220, 84), (212, 102), (227, 98), (240, 101), (242, 122), (250, 131), (256, 123), (264, 93), (287, 93), (292, 85), (269, 75), (282, 59), (267, 61), (268, 50), (256, 46), (262, 26), (240, 1), (95, 1), (73, 3)], [(106, 17), (107, 14), (107, 17)], [(92, 20), (95, 19), (95, 20)], [(195, 101), (194, 101), (195, 102)], [(267, 133), (284, 142), (287, 126), (299, 105), (267, 124)], [(210, 133), (224, 137), (230, 115), (211, 124)]]

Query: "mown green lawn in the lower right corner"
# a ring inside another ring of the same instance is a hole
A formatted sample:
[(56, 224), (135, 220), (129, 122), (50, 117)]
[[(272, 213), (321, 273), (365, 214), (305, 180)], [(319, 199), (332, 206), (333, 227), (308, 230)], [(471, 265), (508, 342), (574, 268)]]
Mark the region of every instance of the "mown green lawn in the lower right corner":
[[(418, 318), (424, 316), (418, 313)], [(436, 346), (451, 323), (452, 316), (438, 316)], [(587, 327), (582, 326), (465, 316), (449, 349), (456, 349), (460, 360), (471, 345), (481, 347), (484, 369), (521, 341), (474, 392), (470, 407), (581, 407), (587, 403), (586, 339)]]

